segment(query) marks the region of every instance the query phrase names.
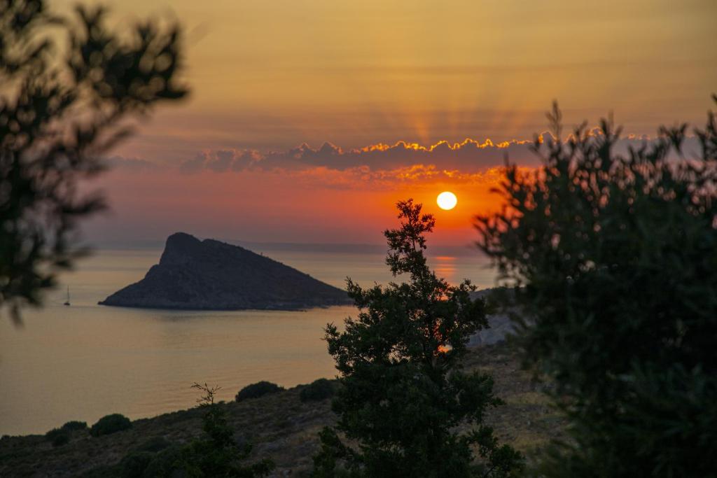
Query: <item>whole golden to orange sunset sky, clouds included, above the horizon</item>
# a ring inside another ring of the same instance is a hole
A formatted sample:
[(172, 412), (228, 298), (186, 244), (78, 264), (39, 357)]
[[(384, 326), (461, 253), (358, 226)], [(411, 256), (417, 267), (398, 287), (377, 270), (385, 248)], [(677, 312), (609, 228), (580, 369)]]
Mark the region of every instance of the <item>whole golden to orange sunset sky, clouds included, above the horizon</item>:
[[(717, 91), (713, 0), (104, 4), (118, 28), (184, 26), (191, 96), (108, 158), (92, 187), (112, 210), (90, 242), (376, 244), (413, 197), (437, 214), (432, 240), (469, 244), (505, 154), (538, 166), (526, 141), (553, 100), (569, 128), (612, 112), (638, 142), (700, 125)], [(445, 190), (452, 211), (435, 205)]]

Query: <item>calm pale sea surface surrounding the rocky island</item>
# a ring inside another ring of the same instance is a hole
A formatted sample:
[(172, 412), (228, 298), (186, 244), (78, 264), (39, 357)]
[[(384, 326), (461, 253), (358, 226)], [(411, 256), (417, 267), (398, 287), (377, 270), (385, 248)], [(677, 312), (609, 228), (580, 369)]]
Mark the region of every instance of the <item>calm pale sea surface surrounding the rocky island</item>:
[[(362, 285), (391, 280), (380, 247), (252, 249), (337, 287), (346, 275)], [(436, 252), (432, 267), (449, 282), (493, 285), (493, 271), (477, 252)], [(222, 386), (219, 398), (232, 400), (260, 380), (290, 387), (335, 376), (322, 328), (355, 315), (353, 307), (183, 312), (97, 305), (141, 279), (160, 255), (161, 248), (96, 251), (62, 277), (46, 307), (24, 312), (24, 327), (0, 317), (0, 434), (44, 433), (69, 420), (92, 424), (115, 412), (138, 419), (189, 408), (195, 381)], [(71, 307), (62, 305), (65, 285)]]

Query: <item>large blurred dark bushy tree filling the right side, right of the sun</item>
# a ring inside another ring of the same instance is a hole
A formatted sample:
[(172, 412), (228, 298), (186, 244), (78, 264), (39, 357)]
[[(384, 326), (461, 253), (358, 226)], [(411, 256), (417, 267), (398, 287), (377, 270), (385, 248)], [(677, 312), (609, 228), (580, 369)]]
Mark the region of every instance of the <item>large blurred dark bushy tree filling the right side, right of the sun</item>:
[[(717, 101), (717, 97), (715, 97)], [(616, 153), (603, 120), (533, 146), (542, 168), (505, 172), (505, 208), (480, 249), (516, 286), (526, 364), (555, 383), (571, 441), (546, 476), (715, 476), (717, 127), (687, 125)]]

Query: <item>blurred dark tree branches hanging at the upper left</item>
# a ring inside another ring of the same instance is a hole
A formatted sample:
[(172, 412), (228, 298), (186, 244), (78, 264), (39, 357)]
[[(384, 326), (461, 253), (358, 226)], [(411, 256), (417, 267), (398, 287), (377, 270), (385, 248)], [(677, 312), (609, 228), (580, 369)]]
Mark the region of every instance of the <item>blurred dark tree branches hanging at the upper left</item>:
[(103, 169), (128, 118), (186, 94), (176, 84), (179, 27), (146, 22), (119, 34), (105, 16), (0, 0), (0, 306), (16, 322), (82, 253), (77, 221), (104, 207), (79, 181)]

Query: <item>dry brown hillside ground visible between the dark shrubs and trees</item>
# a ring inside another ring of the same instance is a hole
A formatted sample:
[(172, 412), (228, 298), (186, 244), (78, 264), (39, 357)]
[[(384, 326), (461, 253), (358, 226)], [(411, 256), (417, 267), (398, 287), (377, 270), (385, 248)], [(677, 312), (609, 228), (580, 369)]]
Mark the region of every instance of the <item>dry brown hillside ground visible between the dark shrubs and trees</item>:
[[(490, 373), (495, 378), (493, 391), (505, 401), (487, 411), (485, 424), (531, 463), (551, 438), (561, 436), (564, 421), (549, 406), (545, 386), (521, 371), (519, 362), (516, 350), (506, 343), (470, 348), (463, 360), (467, 372)], [(328, 398), (302, 401), (308, 388), (298, 386), (238, 403), (217, 404), (227, 412), (227, 423), (239, 443), (253, 444), (247, 463), (271, 459), (275, 469), (270, 476), (310, 474), (311, 457), (320, 447), (318, 434), (336, 423), (336, 415)], [(130, 429), (97, 437), (85, 428), (72, 429), (61, 446), (53, 446), (43, 435), (4, 436), (0, 439), (0, 476), (127, 476), (120, 462), (128, 454), (189, 444), (203, 436), (203, 416), (203, 409), (189, 408), (136, 420)]]

